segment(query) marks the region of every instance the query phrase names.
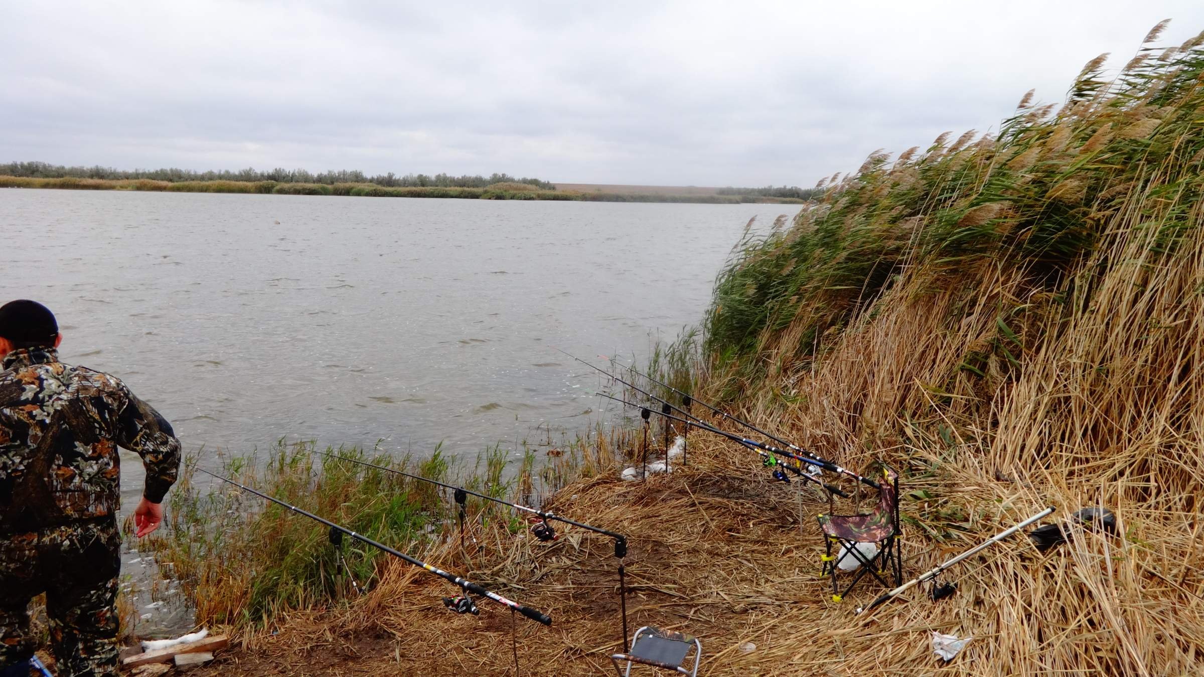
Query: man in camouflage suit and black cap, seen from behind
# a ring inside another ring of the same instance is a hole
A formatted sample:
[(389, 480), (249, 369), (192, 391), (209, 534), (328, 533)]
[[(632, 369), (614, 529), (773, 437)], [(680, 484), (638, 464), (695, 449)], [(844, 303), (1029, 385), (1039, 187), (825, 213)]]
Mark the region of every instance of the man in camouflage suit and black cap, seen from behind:
[(45, 306), (0, 307), (0, 677), (29, 675), (41, 593), (58, 675), (117, 676), (117, 448), (147, 471), (138, 537), (179, 467), (171, 425), (116, 377), (60, 363), (60, 341)]

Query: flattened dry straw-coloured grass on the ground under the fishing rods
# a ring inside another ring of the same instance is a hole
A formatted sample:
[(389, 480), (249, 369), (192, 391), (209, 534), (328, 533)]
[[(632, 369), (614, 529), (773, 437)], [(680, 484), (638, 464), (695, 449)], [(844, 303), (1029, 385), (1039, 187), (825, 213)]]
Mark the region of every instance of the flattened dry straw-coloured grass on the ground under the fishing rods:
[[(628, 535), (631, 630), (655, 624), (698, 635), (704, 675), (1186, 675), (1200, 667), (1204, 579), (1182, 566), (1198, 534), (1178, 532), (1181, 519), (1171, 526), (1165, 516), (1110, 500), (1126, 538), (1086, 534), (1074, 548), (1040, 555), (1016, 537), (951, 572), (957, 596), (933, 604), (917, 590), (862, 619), (852, 610), (880, 594), (879, 585), (837, 605), (818, 576), (822, 542), (814, 518), (826, 502), (809, 490), (799, 501), (797, 485), (765, 481), (749, 453), (710, 441), (691, 453), (684, 472), (647, 484), (582, 481), (549, 507)], [(917, 454), (908, 463), (904, 491), (938, 498), (905, 506), (907, 576), (1045, 502), (1073, 508), (1097, 500), (1040, 473), (1001, 482), (978, 459), (925, 472)], [(952, 506), (973, 507), (955, 522)], [(939, 538), (927, 537), (929, 530)], [(551, 628), (518, 618), (521, 673), (603, 673), (620, 634), (609, 540), (571, 529), (550, 546), (502, 530), (476, 537), (482, 547), (470, 558), (454, 546), (431, 557), (554, 618)], [(452, 590), (418, 569), (390, 565), (361, 602), (300, 614), (279, 635), (254, 636), (250, 650), (213, 673), (235, 661), (266, 675), (508, 673), (508, 613), (482, 600), (479, 617), (452, 614), (438, 599)], [(975, 640), (942, 665), (927, 647), (931, 630)], [(742, 652), (744, 642), (756, 649)]]

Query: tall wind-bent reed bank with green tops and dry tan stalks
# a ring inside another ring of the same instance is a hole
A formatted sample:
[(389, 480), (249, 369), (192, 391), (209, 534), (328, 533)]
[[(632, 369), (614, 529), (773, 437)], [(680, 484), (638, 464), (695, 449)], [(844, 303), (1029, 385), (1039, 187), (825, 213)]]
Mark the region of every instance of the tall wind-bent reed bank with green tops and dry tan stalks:
[[(792, 224), (750, 231), (695, 355), (739, 413), (903, 469), (914, 571), (1005, 525), (998, 506), (1116, 511), (1120, 538), (996, 553), (970, 567), (975, 600), (889, 617), (987, 636), (991, 660), (960, 672), (1200, 670), (1204, 47), (1102, 61), (1060, 106), (1025, 96), (998, 137), (874, 153)], [(915, 655), (840, 644), (881, 670)]]

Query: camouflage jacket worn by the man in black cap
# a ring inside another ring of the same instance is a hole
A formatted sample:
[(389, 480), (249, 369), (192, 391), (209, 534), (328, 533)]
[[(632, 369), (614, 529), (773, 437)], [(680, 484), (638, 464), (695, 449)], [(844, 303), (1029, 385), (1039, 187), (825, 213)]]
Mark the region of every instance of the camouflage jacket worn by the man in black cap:
[(116, 514), (118, 447), (142, 457), (143, 496), (163, 501), (179, 441), (124, 383), (51, 348), (13, 351), (0, 369), (0, 534)]

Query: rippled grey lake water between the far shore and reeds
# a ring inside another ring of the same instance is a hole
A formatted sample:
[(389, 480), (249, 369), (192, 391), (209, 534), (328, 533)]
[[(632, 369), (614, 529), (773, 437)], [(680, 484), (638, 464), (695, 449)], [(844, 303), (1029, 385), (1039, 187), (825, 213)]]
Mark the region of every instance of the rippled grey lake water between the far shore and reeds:
[(750, 218), (795, 211), (2, 189), (0, 302), (49, 306), (63, 360), (122, 377), (189, 451), (473, 458), (586, 425), (597, 378), (553, 347), (645, 355), (701, 318)]

